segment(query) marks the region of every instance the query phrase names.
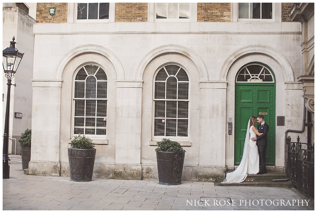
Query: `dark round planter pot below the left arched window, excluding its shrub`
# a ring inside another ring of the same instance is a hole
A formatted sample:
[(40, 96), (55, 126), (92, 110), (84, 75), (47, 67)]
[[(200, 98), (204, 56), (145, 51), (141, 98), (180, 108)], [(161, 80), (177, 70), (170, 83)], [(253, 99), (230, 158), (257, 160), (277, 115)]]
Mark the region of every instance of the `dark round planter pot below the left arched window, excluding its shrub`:
[(96, 149), (68, 148), (70, 180), (91, 181), (94, 171)]

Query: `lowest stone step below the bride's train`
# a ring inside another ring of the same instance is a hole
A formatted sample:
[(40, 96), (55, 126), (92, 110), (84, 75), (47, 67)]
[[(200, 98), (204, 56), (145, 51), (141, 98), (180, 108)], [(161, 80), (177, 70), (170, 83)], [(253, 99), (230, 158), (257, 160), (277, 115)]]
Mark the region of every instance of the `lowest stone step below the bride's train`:
[(242, 182), (235, 184), (221, 184), (222, 180), (216, 180), (214, 182), (215, 186), (258, 186), (258, 187), (283, 187), (288, 188), (291, 187), (290, 181), (283, 182), (261, 182), (261, 181), (250, 181), (250, 182)]

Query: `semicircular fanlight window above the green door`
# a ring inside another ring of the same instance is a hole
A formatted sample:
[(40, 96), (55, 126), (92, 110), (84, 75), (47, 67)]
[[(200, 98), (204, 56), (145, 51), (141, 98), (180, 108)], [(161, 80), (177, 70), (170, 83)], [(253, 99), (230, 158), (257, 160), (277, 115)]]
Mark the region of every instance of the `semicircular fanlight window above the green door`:
[(274, 77), (264, 65), (252, 63), (243, 66), (239, 70), (236, 82), (274, 82)]

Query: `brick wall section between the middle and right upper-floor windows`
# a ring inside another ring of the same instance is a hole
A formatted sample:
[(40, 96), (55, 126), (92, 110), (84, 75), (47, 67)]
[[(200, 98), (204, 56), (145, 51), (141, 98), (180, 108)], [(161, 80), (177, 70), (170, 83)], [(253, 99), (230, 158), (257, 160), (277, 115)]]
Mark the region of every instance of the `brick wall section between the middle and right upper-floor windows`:
[(197, 22), (230, 22), (231, 3), (197, 3)]

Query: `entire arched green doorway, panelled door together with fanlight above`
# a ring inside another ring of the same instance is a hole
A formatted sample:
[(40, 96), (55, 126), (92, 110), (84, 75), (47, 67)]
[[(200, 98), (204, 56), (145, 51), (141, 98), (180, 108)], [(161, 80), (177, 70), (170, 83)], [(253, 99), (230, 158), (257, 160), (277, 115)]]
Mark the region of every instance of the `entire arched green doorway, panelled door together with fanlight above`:
[(239, 69), (235, 81), (235, 165), (242, 158), (249, 118), (259, 114), (269, 126), (266, 165), (275, 165), (275, 77), (267, 65), (251, 62)]

